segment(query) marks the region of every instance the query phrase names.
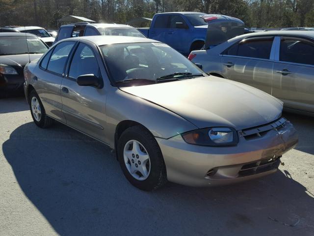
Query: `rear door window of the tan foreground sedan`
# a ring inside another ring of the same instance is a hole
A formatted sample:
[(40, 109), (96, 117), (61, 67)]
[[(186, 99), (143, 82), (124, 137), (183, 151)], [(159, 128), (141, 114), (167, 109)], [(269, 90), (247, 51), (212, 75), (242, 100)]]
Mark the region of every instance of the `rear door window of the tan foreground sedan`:
[(69, 54), (74, 46), (75, 42), (62, 42), (54, 47), (51, 58), (48, 62), (47, 69), (57, 74), (62, 74), (65, 63), (69, 57)]

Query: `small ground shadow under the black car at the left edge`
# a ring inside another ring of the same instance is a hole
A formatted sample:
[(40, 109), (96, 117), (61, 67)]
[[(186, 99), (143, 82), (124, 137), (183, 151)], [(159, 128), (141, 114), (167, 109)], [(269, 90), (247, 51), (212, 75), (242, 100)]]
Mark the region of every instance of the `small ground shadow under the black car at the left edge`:
[(0, 114), (29, 110), (25, 97), (10, 97), (0, 99)]

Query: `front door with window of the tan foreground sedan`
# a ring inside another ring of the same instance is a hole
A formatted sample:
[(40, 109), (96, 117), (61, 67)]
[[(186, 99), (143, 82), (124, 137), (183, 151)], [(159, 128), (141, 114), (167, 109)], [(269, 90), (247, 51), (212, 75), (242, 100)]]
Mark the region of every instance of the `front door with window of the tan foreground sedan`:
[(94, 138), (104, 141), (105, 89), (79, 86), (80, 75), (94, 74), (102, 80), (100, 55), (95, 46), (80, 42), (61, 84), (62, 111), (67, 124)]

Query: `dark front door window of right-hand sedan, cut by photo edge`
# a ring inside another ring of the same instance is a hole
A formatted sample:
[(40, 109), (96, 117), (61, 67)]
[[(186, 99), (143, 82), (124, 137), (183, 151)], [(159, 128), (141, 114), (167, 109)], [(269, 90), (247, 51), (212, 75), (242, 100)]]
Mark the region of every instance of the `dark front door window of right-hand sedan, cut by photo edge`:
[(282, 37), (279, 59), (281, 61), (314, 65), (314, 43), (307, 39)]

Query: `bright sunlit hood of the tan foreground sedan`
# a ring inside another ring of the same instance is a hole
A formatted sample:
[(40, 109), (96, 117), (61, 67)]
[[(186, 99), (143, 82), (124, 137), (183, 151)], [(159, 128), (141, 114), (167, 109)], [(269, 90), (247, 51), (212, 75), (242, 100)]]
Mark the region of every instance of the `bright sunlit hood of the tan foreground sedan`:
[(253, 87), (208, 76), (121, 90), (162, 106), (199, 128), (259, 126), (280, 118), (283, 102)]

